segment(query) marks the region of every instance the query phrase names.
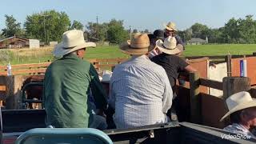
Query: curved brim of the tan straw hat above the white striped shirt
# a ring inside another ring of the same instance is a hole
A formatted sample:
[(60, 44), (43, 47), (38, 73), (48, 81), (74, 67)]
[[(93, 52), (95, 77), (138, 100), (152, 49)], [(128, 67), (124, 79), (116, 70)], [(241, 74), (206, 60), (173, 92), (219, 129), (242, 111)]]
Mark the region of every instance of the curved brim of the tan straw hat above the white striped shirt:
[(122, 51), (122, 53), (139, 55), (139, 54), (147, 54), (150, 51), (154, 50), (155, 47), (150, 45), (150, 46), (147, 46), (147, 47), (136, 49), (136, 48), (130, 47), (130, 43), (123, 42), (119, 46), (119, 48)]

